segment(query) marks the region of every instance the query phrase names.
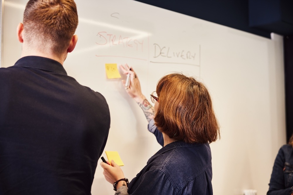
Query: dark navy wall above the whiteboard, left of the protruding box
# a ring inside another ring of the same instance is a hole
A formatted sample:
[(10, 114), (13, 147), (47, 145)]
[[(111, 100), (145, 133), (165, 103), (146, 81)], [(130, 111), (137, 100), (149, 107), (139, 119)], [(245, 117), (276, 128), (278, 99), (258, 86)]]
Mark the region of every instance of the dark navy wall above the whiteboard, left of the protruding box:
[(137, 0), (246, 32), (270, 37), (270, 32), (249, 27), (248, 0)]

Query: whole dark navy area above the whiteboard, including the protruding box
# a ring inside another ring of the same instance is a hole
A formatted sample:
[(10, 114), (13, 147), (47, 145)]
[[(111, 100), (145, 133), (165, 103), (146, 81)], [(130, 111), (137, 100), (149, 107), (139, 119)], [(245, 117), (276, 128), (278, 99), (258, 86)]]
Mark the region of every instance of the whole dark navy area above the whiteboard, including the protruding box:
[[(293, 34), (292, 0), (136, 0), (263, 37)], [(150, 13), (151, 14), (151, 13)]]

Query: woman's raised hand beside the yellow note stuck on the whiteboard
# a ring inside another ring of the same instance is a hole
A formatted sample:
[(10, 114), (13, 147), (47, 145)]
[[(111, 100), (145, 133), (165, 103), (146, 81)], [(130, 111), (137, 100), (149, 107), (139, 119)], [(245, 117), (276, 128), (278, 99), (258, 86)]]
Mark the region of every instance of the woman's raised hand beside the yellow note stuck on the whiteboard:
[[(125, 87), (128, 95), (133, 98), (136, 102), (141, 102), (145, 99), (145, 96), (142, 94), (142, 90), (140, 88), (140, 82), (133, 68), (129, 68), (127, 64), (125, 66), (120, 65), (120, 69), (123, 71), (123, 74), (130, 74), (130, 85), (129, 87)], [(125, 80), (122, 80), (123, 86), (125, 86)]]

